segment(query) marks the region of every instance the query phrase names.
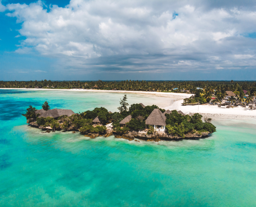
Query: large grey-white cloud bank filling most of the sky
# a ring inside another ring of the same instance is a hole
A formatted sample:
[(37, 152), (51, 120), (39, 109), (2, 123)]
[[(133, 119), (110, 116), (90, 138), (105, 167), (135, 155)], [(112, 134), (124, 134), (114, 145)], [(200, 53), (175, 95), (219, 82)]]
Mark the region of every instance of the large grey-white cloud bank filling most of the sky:
[(1, 9), (22, 23), (19, 33), (26, 39), (17, 52), (58, 57), (67, 69), (124, 73), (256, 66), (255, 39), (242, 35), (255, 32), (253, 1), (71, 0), (65, 8), (38, 1), (0, 3)]

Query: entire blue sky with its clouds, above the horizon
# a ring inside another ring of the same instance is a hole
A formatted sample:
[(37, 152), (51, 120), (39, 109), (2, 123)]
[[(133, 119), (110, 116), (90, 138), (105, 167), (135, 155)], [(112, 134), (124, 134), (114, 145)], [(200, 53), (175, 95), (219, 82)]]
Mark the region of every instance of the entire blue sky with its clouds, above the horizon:
[(0, 0), (1, 80), (256, 80), (256, 2)]

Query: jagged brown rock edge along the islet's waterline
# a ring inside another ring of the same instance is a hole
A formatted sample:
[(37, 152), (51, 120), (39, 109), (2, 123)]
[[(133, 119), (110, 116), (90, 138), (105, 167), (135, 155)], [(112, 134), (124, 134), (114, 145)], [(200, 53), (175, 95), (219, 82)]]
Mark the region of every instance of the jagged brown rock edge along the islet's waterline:
[[(29, 123), (29, 125), (31, 127), (36, 127), (36, 128), (42, 129), (42, 130), (47, 130), (47, 131), (52, 130), (51, 127), (43, 127), (43, 126), (38, 127), (38, 124), (35, 122), (31, 122), (31, 123)], [(65, 130), (65, 129), (63, 129), (62, 126), (60, 125), (60, 127), (56, 128), (56, 130)], [(67, 131), (74, 131), (74, 132), (77, 131), (78, 132), (78, 130), (76, 130), (74, 127), (69, 127)], [(171, 141), (171, 140), (178, 141), (178, 140), (184, 140), (184, 139), (195, 140), (195, 139), (199, 139), (199, 138), (206, 138), (206, 137), (208, 137), (209, 134), (210, 133), (205, 133), (205, 132), (204, 133), (188, 133), (188, 134), (185, 134), (185, 138), (183, 138), (181, 136), (173, 136), (173, 135), (166, 134), (164, 132), (157, 132), (157, 131), (155, 131), (152, 134), (147, 134), (146, 131), (140, 131), (140, 132), (128, 131), (125, 134), (118, 134), (118, 133), (115, 133), (115, 131), (113, 131), (112, 128), (107, 128), (107, 130), (104, 134), (87, 133), (84, 136), (90, 137), (91, 139), (95, 139), (98, 136), (108, 137), (108, 136), (114, 135), (115, 138), (123, 138), (123, 139), (129, 140), (129, 141), (132, 141), (132, 140), (138, 141), (136, 139), (139, 139), (139, 140), (145, 140), (145, 141), (158, 142), (161, 140), (168, 140), (168, 141)]]

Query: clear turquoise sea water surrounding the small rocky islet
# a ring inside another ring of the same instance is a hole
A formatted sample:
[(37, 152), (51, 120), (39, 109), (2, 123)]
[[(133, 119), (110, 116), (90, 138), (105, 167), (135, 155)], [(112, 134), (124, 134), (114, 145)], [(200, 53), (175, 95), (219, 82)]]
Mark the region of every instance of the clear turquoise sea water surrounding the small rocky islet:
[[(114, 112), (122, 96), (0, 90), (0, 206), (256, 206), (255, 121), (215, 120), (206, 139), (158, 144), (41, 133), (21, 116), (45, 100)], [(128, 94), (129, 104), (163, 99)]]

